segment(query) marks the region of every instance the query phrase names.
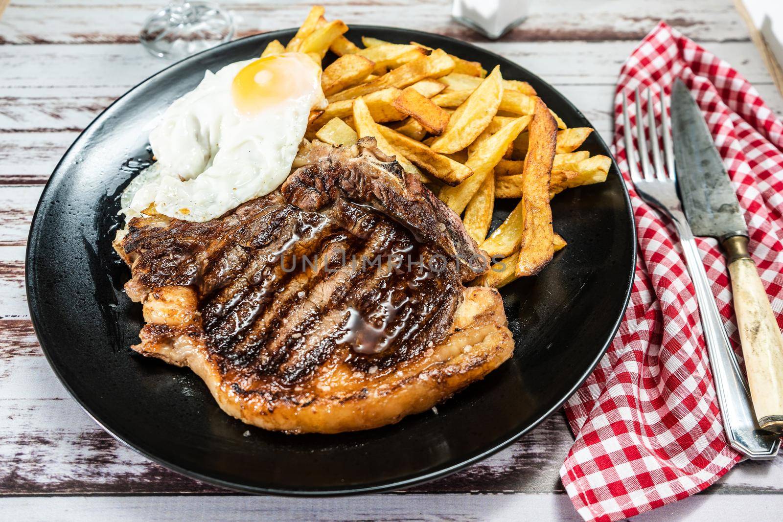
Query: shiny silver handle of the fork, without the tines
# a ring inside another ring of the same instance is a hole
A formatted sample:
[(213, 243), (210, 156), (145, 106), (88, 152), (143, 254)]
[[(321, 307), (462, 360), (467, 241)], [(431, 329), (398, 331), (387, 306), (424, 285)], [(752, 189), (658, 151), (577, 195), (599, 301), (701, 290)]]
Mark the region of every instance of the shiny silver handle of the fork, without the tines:
[(709, 364), (713, 369), (713, 382), (726, 436), (734, 449), (750, 459), (772, 459), (778, 454), (778, 443), (770, 438), (774, 435), (756, 427), (756, 414), (753, 412), (748, 385), (723, 327), (723, 319), (715, 303), (691, 227), (682, 211), (671, 208), (668, 210), (680, 236), (685, 265), (696, 290), (696, 301), (702, 318)]

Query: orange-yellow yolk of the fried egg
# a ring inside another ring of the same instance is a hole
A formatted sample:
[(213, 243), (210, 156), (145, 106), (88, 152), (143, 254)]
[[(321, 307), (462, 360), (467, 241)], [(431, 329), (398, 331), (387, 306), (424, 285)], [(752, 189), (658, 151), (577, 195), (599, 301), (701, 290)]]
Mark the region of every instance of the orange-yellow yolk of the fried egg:
[(258, 113), (285, 100), (319, 89), (320, 67), (309, 56), (290, 52), (248, 63), (231, 85), (233, 103), (244, 113)]

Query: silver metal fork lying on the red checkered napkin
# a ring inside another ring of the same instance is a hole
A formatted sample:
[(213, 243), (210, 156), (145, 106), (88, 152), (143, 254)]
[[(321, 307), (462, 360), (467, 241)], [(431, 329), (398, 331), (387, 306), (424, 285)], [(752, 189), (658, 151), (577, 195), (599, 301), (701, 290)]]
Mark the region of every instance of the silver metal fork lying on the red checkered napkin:
[[(756, 415), (745, 382), (745, 376), (739, 367), (734, 351), (731, 349), (723, 319), (720, 318), (718, 307), (713, 297), (713, 291), (707, 279), (698, 253), (696, 241), (691, 232), (691, 226), (683, 212), (680, 197), (677, 196), (677, 174), (674, 168), (674, 150), (671, 138), (671, 125), (666, 112), (666, 99), (661, 92), (661, 130), (655, 121), (653, 95), (647, 91), (648, 123), (647, 132), (644, 129), (641, 97), (636, 89), (636, 128), (637, 147), (633, 144), (629, 109), (622, 103), (622, 120), (625, 131), (626, 157), (631, 181), (642, 200), (657, 208), (662, 214), (673, 221), (680, 245), (685, 257), (687, 272), (691, 275), (696, 290), (696, 302), (702, 321), (705, 344), (709, 355), (709, 363), (713, 369), (713, 380), (720, 405), (720, 415), (723, 427), (731, 446), (751, 459), (769, 459), (769, 445), (763, 442), (763, 434), (756, 427)], [(647, 142), (649, 135), (650, 148)], [(663, 142), (663, 152), (659, 145)], [(637, 159), (641, 170), (637, 166)], [(652, 156), (652, 162), (650, 161)], [(666, 167), (664, 167), (664, 157)]]

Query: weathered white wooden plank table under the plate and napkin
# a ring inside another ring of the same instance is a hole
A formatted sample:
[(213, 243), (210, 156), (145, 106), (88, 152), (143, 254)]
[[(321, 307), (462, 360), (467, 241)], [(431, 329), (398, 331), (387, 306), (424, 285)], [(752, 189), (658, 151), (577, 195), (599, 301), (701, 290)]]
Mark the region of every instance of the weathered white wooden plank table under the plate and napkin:
[[(164, 67), (136, 34), (163, 0), (12, 0), (0, 19), (0, 520), (580, 520), (558, 470), (572, 435), (557, 414), (500, 452), (407, 491), (337, 499), (235, 495), (150, 463), (81, 411), (49, 369), (24, 294), (27, 229), (41, 189), (78, 132)], [(612, 138), (622, 61), (659, 19), (752, 81), (783, 113), (731, 0), (532, 0), (488, 42), (449, 20), (449, 0), (327, 0), (327, 16), (475, 41), (550, 81)], [(2, 4), (2, 2), (0, 2)], [(309, 2), (231, 1), (238, 36), (298, 26)], [(783, 509), (783, 458), (741, 463), (712, 488), (640, 520), (750, 520)]]

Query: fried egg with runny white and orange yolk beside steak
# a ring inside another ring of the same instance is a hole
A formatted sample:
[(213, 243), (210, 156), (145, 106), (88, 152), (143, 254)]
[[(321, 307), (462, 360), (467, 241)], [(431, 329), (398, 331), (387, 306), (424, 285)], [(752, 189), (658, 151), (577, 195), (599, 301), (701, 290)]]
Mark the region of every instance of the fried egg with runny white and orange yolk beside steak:
[(310, 110), (326, 103), (320, 67), (299, 52), (206, 72), (150, 133), (157, 159), (128, 185), (126, 218), (161, 214), (209, 221), (271, 193), (287, 178)]

